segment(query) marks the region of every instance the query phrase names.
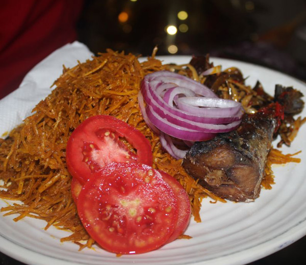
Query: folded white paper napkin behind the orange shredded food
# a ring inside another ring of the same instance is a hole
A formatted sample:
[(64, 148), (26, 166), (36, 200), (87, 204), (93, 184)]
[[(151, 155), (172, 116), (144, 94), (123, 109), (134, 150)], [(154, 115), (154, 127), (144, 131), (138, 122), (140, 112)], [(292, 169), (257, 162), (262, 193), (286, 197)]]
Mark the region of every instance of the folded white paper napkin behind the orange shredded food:
[(63, 65), (73, 67), (92, 55), (86, 45), (75, 41), (55, 50), (37, 64), (25, 75), (18, 89), (0, 100), (0, 137), (22, 123), (35, 105), (51, 93), (50, 86), (62, 74)]

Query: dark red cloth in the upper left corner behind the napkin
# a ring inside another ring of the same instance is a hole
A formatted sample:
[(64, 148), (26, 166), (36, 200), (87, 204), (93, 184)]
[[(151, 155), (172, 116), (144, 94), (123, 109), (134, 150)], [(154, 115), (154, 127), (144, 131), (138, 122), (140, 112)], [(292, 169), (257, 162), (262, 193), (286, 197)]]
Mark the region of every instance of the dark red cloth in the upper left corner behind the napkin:
[(0, 98), (55, 49), (77, 39), (83, 0), (1, 0)]

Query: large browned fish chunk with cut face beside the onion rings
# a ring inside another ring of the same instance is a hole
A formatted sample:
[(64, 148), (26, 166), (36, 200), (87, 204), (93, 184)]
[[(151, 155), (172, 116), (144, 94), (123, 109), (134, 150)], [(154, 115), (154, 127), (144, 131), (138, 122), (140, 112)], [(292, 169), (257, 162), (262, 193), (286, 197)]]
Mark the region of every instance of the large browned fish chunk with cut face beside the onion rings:
[(253, 201), (260, 193), (278, 123), (267, 112), (245, 114), (235, 131), (194, 143), (183, 160), (183, 167), (199, 179), (199, 184), (221, 198)]

